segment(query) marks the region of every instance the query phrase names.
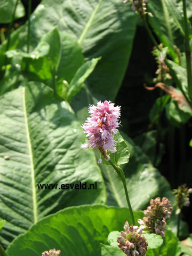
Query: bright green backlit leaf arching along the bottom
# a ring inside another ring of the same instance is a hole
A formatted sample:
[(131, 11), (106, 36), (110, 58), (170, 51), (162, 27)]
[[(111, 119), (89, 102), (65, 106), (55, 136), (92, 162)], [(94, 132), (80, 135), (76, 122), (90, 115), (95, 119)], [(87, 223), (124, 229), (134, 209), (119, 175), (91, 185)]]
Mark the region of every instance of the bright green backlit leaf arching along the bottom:
[[(142, 216), (134, 213), (135, 219)], [(110, 231), (122, 230), (129, 210), (102, 205), (69, 207), (31, 227), (9, 246), (9, 256), (39, 256), (47, 249), (60, 249), (66, 256), (101, 255)]]

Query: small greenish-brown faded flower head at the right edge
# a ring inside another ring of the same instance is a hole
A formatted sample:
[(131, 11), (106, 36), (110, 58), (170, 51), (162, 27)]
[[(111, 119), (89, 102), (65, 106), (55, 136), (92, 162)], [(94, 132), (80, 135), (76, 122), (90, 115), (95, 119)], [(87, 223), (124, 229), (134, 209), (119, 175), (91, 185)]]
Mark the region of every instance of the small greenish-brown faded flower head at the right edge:
[(186, 184), (178, 187), (178, 189), (173, 190), (173, 194), (176, 198), (176, 203), (178, 205), (178, 210), (176, 213), (180, 213), (183, 206), (189, 206), (189, 194), (192, 193), (192, 188), (188, 188)]

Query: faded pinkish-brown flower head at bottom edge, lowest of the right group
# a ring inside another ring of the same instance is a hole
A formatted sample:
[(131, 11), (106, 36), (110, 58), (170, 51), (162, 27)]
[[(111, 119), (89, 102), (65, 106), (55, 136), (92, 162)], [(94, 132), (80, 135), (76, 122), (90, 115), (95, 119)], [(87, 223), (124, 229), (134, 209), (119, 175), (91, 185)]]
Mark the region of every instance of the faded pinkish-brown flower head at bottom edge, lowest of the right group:
[(147, 242), (145, 237), (141, 236), (144, 227), (129, 226), (126, 221), (121, 236), (117, 238), (118, 247), (129, 256), (144, 256), (147, 252)]

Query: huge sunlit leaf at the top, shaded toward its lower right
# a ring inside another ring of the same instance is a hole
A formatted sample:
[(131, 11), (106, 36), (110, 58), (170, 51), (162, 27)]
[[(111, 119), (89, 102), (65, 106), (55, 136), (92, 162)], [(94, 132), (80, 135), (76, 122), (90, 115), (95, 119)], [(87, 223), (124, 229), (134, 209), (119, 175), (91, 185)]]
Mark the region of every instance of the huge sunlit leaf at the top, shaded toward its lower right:
[[(112, 99), (122, 83), (132, 50), (137, 15), (130, 7), (122, 0), (42, 1), (31, 15), (31, 46), (36, 47), (54, 27), (65, 31), (82, 46), (86, 59), (102, 57), (89, 85), (95, 93)], [(26, 49), (27, 26), (12, 37), (17, 43), (12, 39), (11, 48)]]

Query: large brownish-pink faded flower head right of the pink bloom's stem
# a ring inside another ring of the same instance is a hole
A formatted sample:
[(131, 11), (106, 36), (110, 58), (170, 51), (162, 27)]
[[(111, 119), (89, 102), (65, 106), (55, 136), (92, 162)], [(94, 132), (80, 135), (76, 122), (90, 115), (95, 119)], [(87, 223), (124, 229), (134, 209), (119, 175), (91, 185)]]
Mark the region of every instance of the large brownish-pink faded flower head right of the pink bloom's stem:
[(162, 202), (160, 197), (151, 199), (150, 206), (144, 211), (146, 217), (138, 222), (147, 232), (165, 236), (166, 219), (170, 218), (172, 210), (171, 202), (166, 197), (162, 198)]

